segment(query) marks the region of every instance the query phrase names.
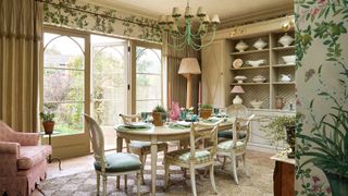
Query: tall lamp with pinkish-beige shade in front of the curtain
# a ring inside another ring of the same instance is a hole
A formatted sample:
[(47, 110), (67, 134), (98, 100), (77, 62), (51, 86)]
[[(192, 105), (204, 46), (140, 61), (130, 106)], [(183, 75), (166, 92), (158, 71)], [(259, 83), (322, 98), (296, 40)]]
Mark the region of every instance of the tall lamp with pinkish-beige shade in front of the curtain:
[(192, 74), (200, 74), (200, 68), (198, 64), (198, 60), (196, 58), (184, 58), (181, 62), (181, 66), (178, 69), (178, 74), (184, 75), (187, 79), (186, 86), (186, 108), (190, 108), (192, 106)]

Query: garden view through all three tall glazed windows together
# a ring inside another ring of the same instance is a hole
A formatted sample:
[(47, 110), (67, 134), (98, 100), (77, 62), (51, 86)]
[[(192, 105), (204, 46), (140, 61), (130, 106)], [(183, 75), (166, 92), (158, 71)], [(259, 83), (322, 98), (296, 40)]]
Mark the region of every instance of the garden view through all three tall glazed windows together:
[[(54, 131), (70, 135), (84, 132), (82, 114), (90, 106), (90, 114), (104, 133), (105, 149), (115, 148), (114, 125), (121, 123), (120, 113), (130, 113), (132, 98), (137, 113), (151, 111), (163, 102), (161, 50), (135, 47), (136, 81), (132, 82), (128, 40), (88, 37), (90, 41), (45, 33), (42, 109), (54, 112)], [(90, 54), (86, 53), (87, 47)], [(90, 66), (86, 65), (87, 58)], [(86, 77), (88, 74), (90, 77)], [(135, 95), (129, 94), (128, 84), (136, 85)], [(85, 100), (85, 94), (90, 100)]]

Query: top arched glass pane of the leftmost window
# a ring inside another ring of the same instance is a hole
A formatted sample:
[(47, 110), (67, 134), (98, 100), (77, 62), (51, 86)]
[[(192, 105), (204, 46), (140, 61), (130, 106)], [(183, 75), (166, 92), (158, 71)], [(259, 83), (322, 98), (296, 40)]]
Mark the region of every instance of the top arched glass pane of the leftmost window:
[(60, 36), (52, 39), (51, 34), (45, 34), (44, 39), (45, 42), (51, 39), (45, 48), (45, 68), (84, 69), (83, 38)]

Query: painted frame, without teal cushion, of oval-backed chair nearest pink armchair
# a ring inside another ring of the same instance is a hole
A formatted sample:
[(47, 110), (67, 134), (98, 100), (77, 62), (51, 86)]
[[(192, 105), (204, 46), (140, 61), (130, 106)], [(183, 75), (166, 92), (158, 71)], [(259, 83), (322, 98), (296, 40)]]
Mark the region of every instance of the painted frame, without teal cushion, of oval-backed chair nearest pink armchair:
[(89, 115), (84, 114), (85, 120), (87, 122), (88, 128), (89, 128), (89, 136), (92, 144), (94, 149), (94, 156), (97, 162), (101, 166), (101, 171), (97, 171), (97, 195), (99, 195), (100, 192), (100, 175), (102, 176), (102, 185), (103, 185), (103, 192), (102, 195), (107, 195), (107, 181), (108, 176), (120, 176), (124, 175), (124, 185), (125, 189), (127, 189), (127, 177), (128, 174), (136, 173), (137, 175), (137, 195), (140, 195), (139, 187), (140, 187), (140, 170), (133, 170), (127, 172), (105, 172), (105, 155), (104, 155), (104, 137), (103, 133), (100, 128), (100, 126), (97, 124), (97, 122)]

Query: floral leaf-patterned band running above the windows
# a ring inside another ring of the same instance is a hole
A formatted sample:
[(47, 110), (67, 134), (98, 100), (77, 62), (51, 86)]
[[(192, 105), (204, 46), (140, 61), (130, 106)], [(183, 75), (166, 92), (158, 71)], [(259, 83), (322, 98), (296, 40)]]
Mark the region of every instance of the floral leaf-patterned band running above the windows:
[(42, 0), (44, 23), (161, 42), (157, 21), (78, 0)]

